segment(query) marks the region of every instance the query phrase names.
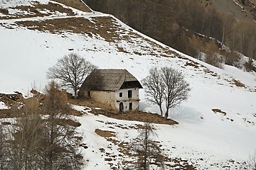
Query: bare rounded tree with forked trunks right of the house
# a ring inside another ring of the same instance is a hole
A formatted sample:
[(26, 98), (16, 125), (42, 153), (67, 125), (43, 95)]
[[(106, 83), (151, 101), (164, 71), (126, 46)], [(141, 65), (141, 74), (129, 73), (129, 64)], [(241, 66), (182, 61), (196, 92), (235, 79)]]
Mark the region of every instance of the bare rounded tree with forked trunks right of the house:
[(165, 103), (165, 119), (169, 116), (169, 109), (186, 101), (191, 90), (181, 72), (170, 67), (150, 69), (149, 76), (142, 80), (142, 84), (149, 102), (159, 106), (161, 115), (163, 115), (162, 104)]

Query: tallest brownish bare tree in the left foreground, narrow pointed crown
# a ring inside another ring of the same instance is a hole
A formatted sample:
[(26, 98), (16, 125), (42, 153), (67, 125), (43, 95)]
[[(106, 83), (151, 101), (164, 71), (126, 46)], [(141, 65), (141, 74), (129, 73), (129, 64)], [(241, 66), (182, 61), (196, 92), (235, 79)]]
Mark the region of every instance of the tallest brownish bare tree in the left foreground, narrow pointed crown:
[(60, 91), (55, 81), (46, 86), (43, 101), (45, 133), (41, 140), (41, 169), (81, 169), (83, 157), (79, 152), (82, 137), (71, 125), (68, 98), (65, 91)]

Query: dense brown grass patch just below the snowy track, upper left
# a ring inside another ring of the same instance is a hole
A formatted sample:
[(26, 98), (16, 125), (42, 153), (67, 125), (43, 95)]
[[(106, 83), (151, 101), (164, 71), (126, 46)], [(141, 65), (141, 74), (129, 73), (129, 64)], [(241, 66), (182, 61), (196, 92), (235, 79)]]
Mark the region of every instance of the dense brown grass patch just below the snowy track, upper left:
[(116, 26), (110, 17), (95, 17), (92, 23), (87, 18), (55, 18), (46, 21), (18, 21), (16, 24), (25, 26), (30, 30), (49, 31), (50, 33), (71, 32), (78, 34), (86, 34), (90, 37), (100, 35), (108, 42), (113, 42), (114, 38), (119, 38), (119, 34), (115, 33)]

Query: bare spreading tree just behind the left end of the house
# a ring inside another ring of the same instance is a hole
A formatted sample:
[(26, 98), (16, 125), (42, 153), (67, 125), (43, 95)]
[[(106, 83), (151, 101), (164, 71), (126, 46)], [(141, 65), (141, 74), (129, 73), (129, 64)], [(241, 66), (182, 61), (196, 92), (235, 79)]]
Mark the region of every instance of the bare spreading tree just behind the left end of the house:
[(82, 82), (95, 68), (95, 65), (86, 61), (83, 57), (75, 53), (70, 53), (58, 60), (55, 66), (50, 67), (46, 77), (48, 79), (58, 79), (60, 86), (72, 88), (75, 98), (77, 98)]

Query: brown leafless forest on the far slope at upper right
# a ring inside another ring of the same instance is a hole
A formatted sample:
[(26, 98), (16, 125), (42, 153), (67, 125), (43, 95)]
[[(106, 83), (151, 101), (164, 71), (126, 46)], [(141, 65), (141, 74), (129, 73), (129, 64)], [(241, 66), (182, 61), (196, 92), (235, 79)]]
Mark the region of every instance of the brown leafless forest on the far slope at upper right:
[[(250, 18), (256, 16), (252, 1), (239, 1), (245, 11), (233, 1), (124, 1), (85, 0), (93, 9), (112, 13), (127, 25), (177, 50), (199, 58), (198, 52), (208, 55), (206, 62), (217, 67), (221, 63), (241, 67), (234, 51), (256, 59), (256, 25)], [(205, 2), (205, 3), (204, 3)], [(234, 5), (222, 11), (221, 3)], [(219, 5), (219, 6), (218, 6)], [(252, 9), (250, 9), (252, 8)], [(239, 11), (239, 20), (232, 11)], [(248, 15), (248, 16), (247, 16)], [(206, 36), (205, 36), (206, 35)], [(230, 50), (226, 50), (226, 45)], [(218, 53), (220, 55), (215, 55)], [(223, 57), (223, 58), (220, 58)], [(251, 67), (250, 65), (247, 67)], [(248, 69), (251, 71), (255, 69)]]

